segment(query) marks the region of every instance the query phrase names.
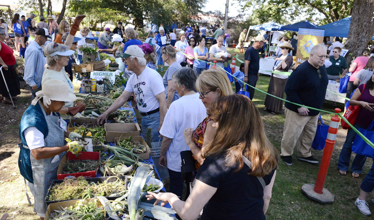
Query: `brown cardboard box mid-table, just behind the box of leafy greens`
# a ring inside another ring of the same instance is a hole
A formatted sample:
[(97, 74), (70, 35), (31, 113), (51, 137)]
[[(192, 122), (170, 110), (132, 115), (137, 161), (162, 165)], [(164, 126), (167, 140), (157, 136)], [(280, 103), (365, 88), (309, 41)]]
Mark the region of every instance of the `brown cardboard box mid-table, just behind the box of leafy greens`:
[(107, 142), (114, 142), (114, 138), (140, 136), (138, 123), (106, 123), (105, 138)]

